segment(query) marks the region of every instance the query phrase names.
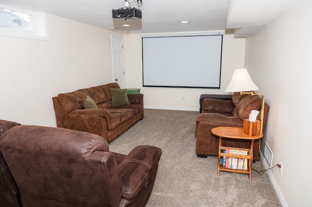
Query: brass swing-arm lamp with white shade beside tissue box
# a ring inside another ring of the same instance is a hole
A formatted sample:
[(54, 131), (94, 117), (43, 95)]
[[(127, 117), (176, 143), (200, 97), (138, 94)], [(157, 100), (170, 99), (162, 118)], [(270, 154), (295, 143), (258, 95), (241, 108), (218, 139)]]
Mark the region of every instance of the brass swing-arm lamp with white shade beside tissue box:
[[(229, 85), (225, 88), (224, 92), (240, 92), (241, 94), (251, 94), (253, 95), (262, 95), (261, 100), (261, 109), (260, 109), (260, 120), (261, 128), (260, 133), (263, 134), (263, 115), (264, 115), (264, 93), (254, 93), (254, 90), (259, 90), (259, 88), (254, 84), (253, 80), (250, 78), (247, 69), (235, 69), (232, 79)], [(251, 92), (244, 92), (251, 91)]]

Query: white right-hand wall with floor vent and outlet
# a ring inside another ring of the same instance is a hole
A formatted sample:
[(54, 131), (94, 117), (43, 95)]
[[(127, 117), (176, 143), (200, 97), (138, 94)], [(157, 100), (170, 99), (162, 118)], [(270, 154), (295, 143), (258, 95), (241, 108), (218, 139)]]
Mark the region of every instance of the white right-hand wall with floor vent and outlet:
[(273, 185), (290, 207), (312, 206), (311, 8), (305, 0), (246, 39), (245, 67), (270, 105), (265, 139), (284, 165), (271, 170)]

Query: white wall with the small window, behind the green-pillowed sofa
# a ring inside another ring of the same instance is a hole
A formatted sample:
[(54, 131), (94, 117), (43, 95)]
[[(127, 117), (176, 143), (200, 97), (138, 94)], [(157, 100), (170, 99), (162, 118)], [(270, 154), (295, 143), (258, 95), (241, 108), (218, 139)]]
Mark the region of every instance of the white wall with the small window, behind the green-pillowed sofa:
[(111, 32), (48, 15), (50, 41), (0, 36), (0, 119), (56, 126), (52, 97), (113, 81)]

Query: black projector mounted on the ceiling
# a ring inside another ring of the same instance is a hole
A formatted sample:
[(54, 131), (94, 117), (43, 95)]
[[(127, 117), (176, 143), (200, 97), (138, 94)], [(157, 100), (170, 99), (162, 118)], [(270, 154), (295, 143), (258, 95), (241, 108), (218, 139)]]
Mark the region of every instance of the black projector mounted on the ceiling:
[[(139, 0), (137, 0), (138, 2)], [(140, 0), (142, 4), (142, 0)], [(139, 4), (138, 4), (139, 5)], [(128, 18), (142, 18), (142, 12), (140, 9), (130, 7), (128, 0), (125, 0), (125, 5), (120, 9), (113, 9), (113, 18), (128, 19)]]

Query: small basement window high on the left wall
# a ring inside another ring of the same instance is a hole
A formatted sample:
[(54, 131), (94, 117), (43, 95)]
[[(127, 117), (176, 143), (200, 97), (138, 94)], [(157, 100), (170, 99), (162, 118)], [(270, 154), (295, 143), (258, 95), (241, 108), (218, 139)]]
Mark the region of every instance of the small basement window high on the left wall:
[(0, 35), (49, 40), (45, 13), (33, 13), (0, 4)]

